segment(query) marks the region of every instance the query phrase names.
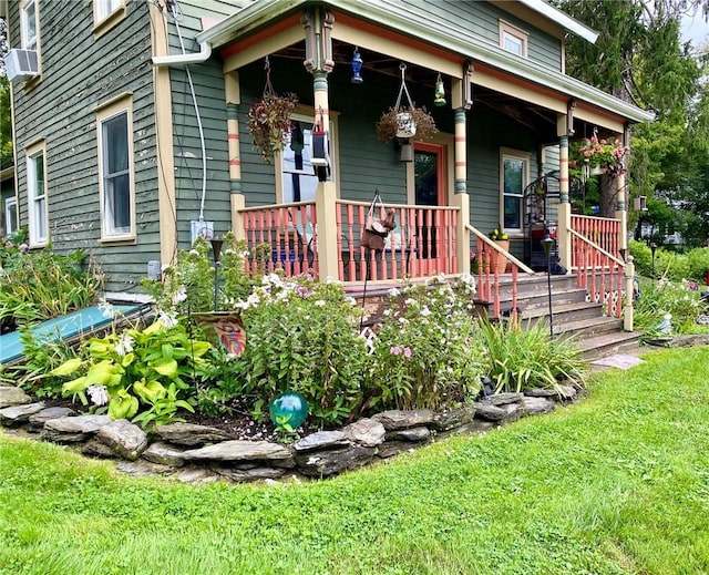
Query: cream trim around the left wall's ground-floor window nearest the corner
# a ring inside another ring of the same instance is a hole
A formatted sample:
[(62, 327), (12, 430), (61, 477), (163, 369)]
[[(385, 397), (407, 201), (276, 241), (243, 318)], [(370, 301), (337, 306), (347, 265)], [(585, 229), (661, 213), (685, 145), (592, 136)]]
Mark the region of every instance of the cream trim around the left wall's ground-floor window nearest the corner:
[[(120, 114), (127, 114), (127, 146), (129, 146), (129, 193), (131, 204), (131, 228), (125, 234), (107, 235), (105, 233), (104, 218), (106, 216), (104, 207), (104, 182), (103, 182), (103, 122)], [(114, 99), (111, 102), (96, 109), (96, 150), (99, 158), (99, 203), (101, 213), (101, 238), (102, 243), (125, 243), (135, 242), (135, 158), (133, 154), (133, 99), (130, 95)]]

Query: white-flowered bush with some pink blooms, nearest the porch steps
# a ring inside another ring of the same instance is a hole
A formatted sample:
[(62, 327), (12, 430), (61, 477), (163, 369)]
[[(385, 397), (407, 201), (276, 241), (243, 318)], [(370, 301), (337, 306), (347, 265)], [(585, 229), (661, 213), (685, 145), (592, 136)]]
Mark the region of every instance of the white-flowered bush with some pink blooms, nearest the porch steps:
[(456, 285), (441, 275), (390, 290), (371, 340), (368, 409), (440, 410), (473, 401), (483, 373), (474, 294), (467, 275)]

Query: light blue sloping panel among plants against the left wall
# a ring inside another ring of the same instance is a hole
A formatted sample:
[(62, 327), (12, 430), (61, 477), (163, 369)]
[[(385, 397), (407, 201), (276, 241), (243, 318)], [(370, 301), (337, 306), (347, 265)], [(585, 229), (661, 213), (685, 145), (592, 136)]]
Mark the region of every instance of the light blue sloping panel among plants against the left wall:
[[(142, 305), (113, 306), (115, 317), (129, 317), (135, 314)], [(37, 341), (56, 341), (58, 339), (71, 339), (75, 336), (88, 333), (94, 329), (111, 324), (112, 318), (104, 315), (104, 310), (97, 306), (79, 309), (60, 318), (49, 319), (32, 326), (30, 330)], [(0, 336), (0, 364), (9, 363), (22, 357), (23, 346), (20, 341), (20, 332), (12, 331)]]

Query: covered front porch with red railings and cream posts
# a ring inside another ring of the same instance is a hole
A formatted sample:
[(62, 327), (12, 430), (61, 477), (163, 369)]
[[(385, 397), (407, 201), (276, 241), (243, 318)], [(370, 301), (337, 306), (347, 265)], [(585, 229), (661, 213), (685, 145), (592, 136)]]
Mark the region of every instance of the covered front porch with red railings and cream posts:
[[(544, 234), (540, 237), (538, 229), (533, 234), (526, 225), (531, 213), (524, 193), (554, 170), (556, 195), (536, 217), (543, 232), (556, 229), (559, 264), (577, 276), (579, 286), (588, 287), (592, 300), (609, 292), (631, 294), (633, 274), (625, 261), (625, 175), (615, 181), (615, 217), (575, 214), (568, 152), (573, 137), (598, 130), (627, 145), (629, 123), (645, 121), (647, 114), (561, 72), (497, 49), (473, 49), (464, 35), (452, 40), (438, 24), (412, 27), (389, 18), (392, 24), (384, 28), (377, 23), (382, 20), (373, 6), (354, 11), (343, 1), (300, 4), (298, 10), (271, 10), (268, 21), (256, 8), (247, 8), (238, 25), (227, 19), (198, 37), (217, 47), (224, 62), (232, 227), (247, 243), (249, 271), (312, 270), (322, 279), (352, 285), (472, 273), (480, 297), (492, 301), (493, 315), (500, 315), (500, 277), (510, 275), (514, 285), (520, 275), (538, 271), (527, 248), (538, 251), (536, 243)], [(364, 60), (364, 80), (357, 85), (348, 78), (354, 53)], [(285, 162), (292, 154), (286, 145), (275, 157), (270, 188), (251, 184), (244, 173), (250, 154), (247, 110), (258, 93), (253, 84), (263, 79), (266, 58), (274, 70), (280, 62), (278, 73), (288, 81), (278, 89), (299, 89), (295, 117), (306, 140), (319, 126), (329, 151), (327, 171), (308, 162), (312, 148), (307, 143), (305, 164), (288, 170)], [(336, 75), (338, 71), (343, 74)], [(304, 76), (310, 79), (308, 89)], [(352, 99), (360, 107), (364, 102), (374, 107), (376, 119), (393, 104), (400, 80), (422, 101), (439, 79), (446, 97), (433, 110), (440, 133), (432, 142), (413, 136), (408, 142), (414, 148), (412, 161), (399, 160), (403, 142), (383, 148), (373, 143), (373, 134), (362, 135), (360, 122), (372, 116), (352, 105)], [(352, 95), (352, 90), (359, 92)], [(431, 167), (430, 160), (434, 177), (422, 172)], [(508, 168), (517, 171), (510, 181)], [(369, 249), (361, 239), (370, 198), (379, 188), (384, 203), (377, 206), (377, 215), (393, 209), (395, 227), (383, 248)], [(490, 239), (499, 227), (508, 234), (508, 246)], [(506, 266), (500, 265), (502, 259)], [(620, 317), (621, 305), (609, 312)]]

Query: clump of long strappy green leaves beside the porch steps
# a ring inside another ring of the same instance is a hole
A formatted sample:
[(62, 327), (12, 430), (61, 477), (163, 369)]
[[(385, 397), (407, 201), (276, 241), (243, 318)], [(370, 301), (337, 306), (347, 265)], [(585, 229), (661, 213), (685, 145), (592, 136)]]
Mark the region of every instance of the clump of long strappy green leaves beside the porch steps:
[(481, 320), (480, 336), (485, 348), (485, 373), (493, 380), (496, 393), (585, 386), (585, 362), (574, 341), (549, 338), (543, 324), (522, 327)]

